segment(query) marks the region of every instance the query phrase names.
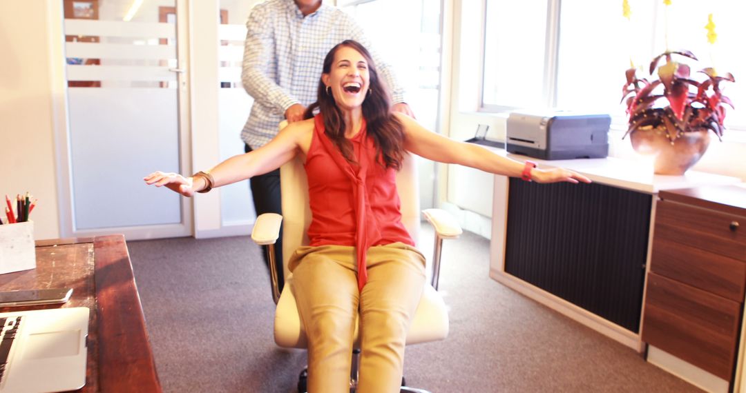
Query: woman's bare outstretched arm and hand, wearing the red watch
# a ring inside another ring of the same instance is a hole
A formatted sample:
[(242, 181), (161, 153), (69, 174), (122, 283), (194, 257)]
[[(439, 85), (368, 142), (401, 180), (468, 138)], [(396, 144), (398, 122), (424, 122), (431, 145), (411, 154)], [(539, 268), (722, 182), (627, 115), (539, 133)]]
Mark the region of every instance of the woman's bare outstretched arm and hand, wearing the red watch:
[[(395, 115), (404, 124), (404, 148), (418, 156), (446, 164), (473, 167), (498, 175), (521, 177), (524, 162), (492, 153), (478, 144), (454, 141), (430, 132), (407, 115)], [(586, 176), (563, 168), (533, 168), (531, 179), (539, 183), (591, 182)]]

